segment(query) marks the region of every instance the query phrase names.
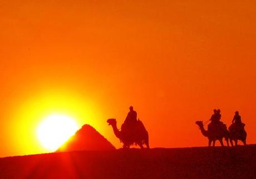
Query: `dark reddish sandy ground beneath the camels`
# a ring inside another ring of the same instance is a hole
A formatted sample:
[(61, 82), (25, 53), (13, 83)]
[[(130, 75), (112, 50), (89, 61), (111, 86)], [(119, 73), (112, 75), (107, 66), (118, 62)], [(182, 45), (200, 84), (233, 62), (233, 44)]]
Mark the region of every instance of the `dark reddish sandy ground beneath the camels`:
[(0, 178), (256, 178), (256, 145), (0, 158)]

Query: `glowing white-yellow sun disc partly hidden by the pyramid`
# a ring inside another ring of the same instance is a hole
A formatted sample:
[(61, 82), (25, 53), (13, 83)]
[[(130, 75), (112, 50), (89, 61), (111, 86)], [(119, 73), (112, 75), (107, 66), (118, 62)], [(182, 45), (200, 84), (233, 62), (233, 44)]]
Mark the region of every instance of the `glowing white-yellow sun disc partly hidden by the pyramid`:
[(76, 121), (64, 115), (51, 115), (37, 128), (37, 137), (50, 151), (57, 150), (78, 130)]

